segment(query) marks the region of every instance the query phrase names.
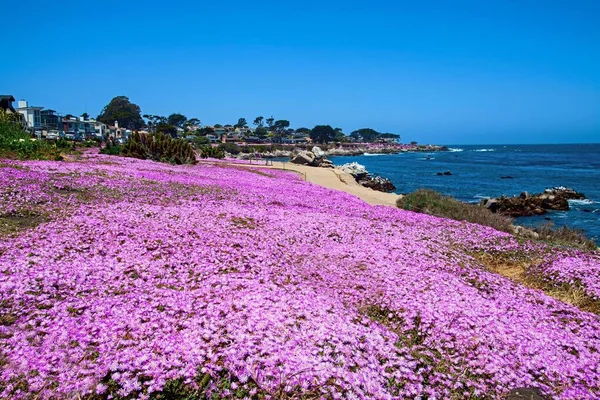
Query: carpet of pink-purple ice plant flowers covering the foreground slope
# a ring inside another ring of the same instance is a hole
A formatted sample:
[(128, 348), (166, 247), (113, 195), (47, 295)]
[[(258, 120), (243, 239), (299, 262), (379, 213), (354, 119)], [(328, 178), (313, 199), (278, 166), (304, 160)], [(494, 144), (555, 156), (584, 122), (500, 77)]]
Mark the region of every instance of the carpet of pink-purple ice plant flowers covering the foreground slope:
[[(600, 397), (600, 318), (486, 270), (539, 250), (491, 228), (101, 155), (0, 162), (0, 223), (0, 398)], [(598, 255), (541, 273), (597, 293)]]

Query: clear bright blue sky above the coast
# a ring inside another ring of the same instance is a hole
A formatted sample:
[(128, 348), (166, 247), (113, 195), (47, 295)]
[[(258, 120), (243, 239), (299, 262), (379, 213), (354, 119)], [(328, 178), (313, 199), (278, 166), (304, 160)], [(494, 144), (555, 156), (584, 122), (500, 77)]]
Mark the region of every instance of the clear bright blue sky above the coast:
[[(59, 4), (56, 4), (59, 3)], [(0, 92), (421, 143), (600, 141), (600, 1), (13, 2)]]

